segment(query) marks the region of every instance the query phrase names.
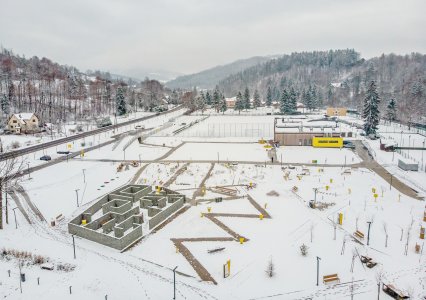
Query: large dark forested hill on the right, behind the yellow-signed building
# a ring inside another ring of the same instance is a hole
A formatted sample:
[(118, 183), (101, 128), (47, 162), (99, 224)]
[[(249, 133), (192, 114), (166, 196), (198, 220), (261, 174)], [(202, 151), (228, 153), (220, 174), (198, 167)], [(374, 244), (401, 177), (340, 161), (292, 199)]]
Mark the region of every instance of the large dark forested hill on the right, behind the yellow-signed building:
[(292, 53), (232, 74), (219, 82), (219, 89), (235, 96), (248, 87), (265, 99), (269, 88), (273, 100), (279, 100), (283, 89), (293, 88), (301, 102), (303, 94), (315, 90), (319, 103), (360, 108), (371, 80), (377, 83), (382, 106), (396, 99), (399, 118), (425, 116), (426, 55), (419, 53), (369, 60), (353, 49)]

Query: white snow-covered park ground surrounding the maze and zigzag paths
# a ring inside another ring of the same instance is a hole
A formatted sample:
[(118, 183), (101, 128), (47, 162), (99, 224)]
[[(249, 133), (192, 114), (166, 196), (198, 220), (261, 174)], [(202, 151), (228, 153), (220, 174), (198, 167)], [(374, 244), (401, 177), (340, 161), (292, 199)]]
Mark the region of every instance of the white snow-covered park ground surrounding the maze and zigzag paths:
[[(0, 298), (171, 299), (172, 269), (176, 266), (177, 271), (181, 272), (176, 278), (177, 299), (350, 299), (352, 281), (354, 298), (375, 299), (376, 274), (380, 272), (383, 272), (383, 282), (394, 284), (406, 292), (412, 291), (412, 299), (425, 296), (426, 260), (424, 253), (415, 252), (416, 244), (421, 249), (424, 244), (424, 240), (420, 239), (420, 228), (426, 227), (426, 222), (422, 221), (424, 201), (400, 194), (371, 170), (351, 169), (351, 165), (360, 162), (352, 150), (278, 148), (278, 161), (282, 155), (284, 163), (311, 164), (316, 160), (318, 164), (347, 165), (346, 168), (296, 166), (290, 169), (287, 165), (282, 168), (280, 164), (265, 166), (263, 163), (253, 163), (269, 161), (267, 150), (257, 143), (257, 136), (203, 136), (209, 130), (206, 124), (226, 123), (227, 118), (229, 124), (245, 124), (243, 118), (250, 118), (248, 116), (211, 116), (183, 131), (196, 131), (198, 127), (199, 137), (193, 133), (188, 136), (160, 136), (173, 132), (173, 126), (179, 128), (182, 123), (201, 117), (177, 118), (178, 115), (156, 118), (155, 122), (147, 124), (147, 128), (156, 128), (158, 132), (148, 137), (144, 141), (145, 145), (135, 141), (126, 148), (126, 160), (144, 161), (142, 172), (138, 172), (142, 166), (130, 166), (128, 170), (117, 172), (119, 163), (108, 162), (124, 159), (123, 146), (131, 140), (129, 135), (116, 142), (116, 145), (112, 143), (87, 152), (83, 158), (70, 159), (69, 162), (32, 172), (32, 179), (28, 179), (29, 176), (23, 178), (21, 185), (47, 222), (37, 219), (26, 201), (18, 195), (33, 224), (28, 224), (19, 209), (16, 209), (16, 229), (12, 213), (16, 204), (9, 197), (9, 223), (5, 224), (4, 230), (0, 230), (0, 251), (6, 248), (40, 254), (49, 257), (55, 265), (68, 263), (75, 269), (70, 272), (46, 271), (38, 266), (25, 265), (23, 273), (26, 274), (26, 281), (22, 283), (21, 294), (18, 260), (3, 257), (0, 252)], [(174, 120), (168, 123), (170, 118)], [(256, 119), (255, 124), (273, 120), (271, 116), (252, 118)], [(164, 129), (162, 126), (165, 124), (172, 125)], [(163, 133), (160, 131), (162, 129)], [(411, 138), (417, 141), (417, 137), (413, 137), (415, 134), (411, 134)], [(107, 133), (87, 138), (84, 142), (95, 145), (110, 139), (111, 134)], [(72, 151), (84, 148), (81, 142), (76, 141)], [(171, 147), (182, 142), (185, 144), (170, 156), (157, 161)], [(367, 142), (381, 165), (394, 170), (395, 176), (413, 188), (426, 189), (424, 172), (400, 171), (396, 167), (400, 154), (380, 151), (378, 141)], [(44, 152), (53, 156), (61, 147), (65, 149), (68, 146), (45, 149)], [(41, 154), (42, 151), (39, 151), (27, 156), (27, 159), (31, 165), (35, 165), (40, 162), (38, 157)], [(218, 158), (220, 163), (217, 163)], [(197, 162), (186, 165), (180, 160)], [(229, 163), (223, 163), (227, 161)], [(233, 161), (249, 163), (232, 164)], [(184, 166), (186, 170), (182, 170), (169, 187), (184, 193), (188, 199), (192, 199), (213, 167), (211, 176), (205, 182), (206, 194), (195, 199), (198, 205), (190, 206), (164, 228), (145, 236), (140, 243), (124, 253), (76, 238), (77, 258), (73, 258), (72, 237), (67, 232), (67, 222), (73, 216), (92, 201), (131, 179), (139, 184), (163, 185)], [(242, 186), (249, 183), (254, 183), (255, 188), (247, 190)], [(210, 187), (222, 185), (234, 185), (237, 197), (227, 200), (226, 195), (214, 189), (209, 190)], [(316, 200), (328, 204), (327, 209), (309, 208), (309, 201), (315, 197), (314, 189), (317, 189)], [(77, 193), (75, 190), (78, 190)], [(377, 199), (374, 194), (377, 194)], [(259, 210), (250, 204), (245, 197), (247, 195), (266, 209), (271, 219), (261, 220), (258, 217)], [(209, 202), (209, 199), (216, 197), (223, 197), (224, 200), (219, 203)], [(212, 213), (255, 216), (217, 217), (233, 232), (247, 237), (249, 241), (244, 244), (238, 241), (184, 242), (217, 281), (217, 285), (200, 281), (197, 272), (181, 253), (176, 252), (170, 240), (230, 237), (227, 231), (207, 217), (202, 217), (202, 213), (208, 210)], [(338, 213), (343, 214), (343, 223), (334, 226)], [(60, 214), (65, 219), (51, 227), (50, 220)], [(372, 222), (369, 245), (367, 222)], [(364, 233), (365, 238), (355, 240), (353, 233), (356, 230)], [(301, 254), (302, 244), (308, 247), (307, 256)], [(221, 247), (225, 249), (208, 253), (208, 250)], [(371, 257), (378, 265), (373, 269), (367, 268), (360, 263), (358, 254)], [(316, 285), (317, 257), (321, 258), (319, 286)], [(231, 274), (223, 278), (223, 265), (227, 260), (231, 260)], [(265, 272), (271, 261), (273, 277)], [(8, 270), (11, 270), (10, 277)], [(329, 274), (338, 274), (341, 284), (324, 284), (322, 276)], [(37, 284), (37, 278), (40, 279), (40, 285)], [(391, 298), (381, 293), (380, 299)]]

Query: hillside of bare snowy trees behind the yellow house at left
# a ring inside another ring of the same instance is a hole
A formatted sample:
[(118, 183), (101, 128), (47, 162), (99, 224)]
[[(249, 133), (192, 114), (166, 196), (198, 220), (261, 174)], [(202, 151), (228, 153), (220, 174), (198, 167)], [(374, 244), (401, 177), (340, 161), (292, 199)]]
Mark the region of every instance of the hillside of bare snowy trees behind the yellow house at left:
[(101, 71), (83, 73), (48, 58), (25, 58), (0, 48), (1, 121), (15, 112), (35, 112), (45, 122), (120, 115), (153, 109), (168, 96), (177, 103), (177, 93), (156, 80), (140, 82)]

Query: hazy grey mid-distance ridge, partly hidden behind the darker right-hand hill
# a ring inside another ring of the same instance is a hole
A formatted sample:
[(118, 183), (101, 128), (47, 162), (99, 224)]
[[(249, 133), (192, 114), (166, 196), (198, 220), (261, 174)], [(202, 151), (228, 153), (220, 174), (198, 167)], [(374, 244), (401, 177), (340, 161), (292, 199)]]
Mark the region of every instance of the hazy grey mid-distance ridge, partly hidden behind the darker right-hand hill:
[(255, 56), (248, 59), (237, 60), (233, 63), (216, 66), (214, 68), (191, 75), (179, 76), (166, 83), (169, 88), (191, 89), (193, 87), (201, 89), (212, 89), (215, 85), (231, 74), (241, 72), (254, 65), (261, 64), (273, 59), (273, 56)]

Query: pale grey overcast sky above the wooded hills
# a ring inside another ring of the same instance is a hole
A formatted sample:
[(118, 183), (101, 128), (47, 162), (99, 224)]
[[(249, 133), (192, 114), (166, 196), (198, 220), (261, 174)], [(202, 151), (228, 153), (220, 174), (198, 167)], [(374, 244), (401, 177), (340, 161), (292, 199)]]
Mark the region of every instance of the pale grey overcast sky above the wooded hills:
[(0, 43), (85, 71), (193, 73), (355, 48), (426, 53), (425, 0), (1, 0)]

